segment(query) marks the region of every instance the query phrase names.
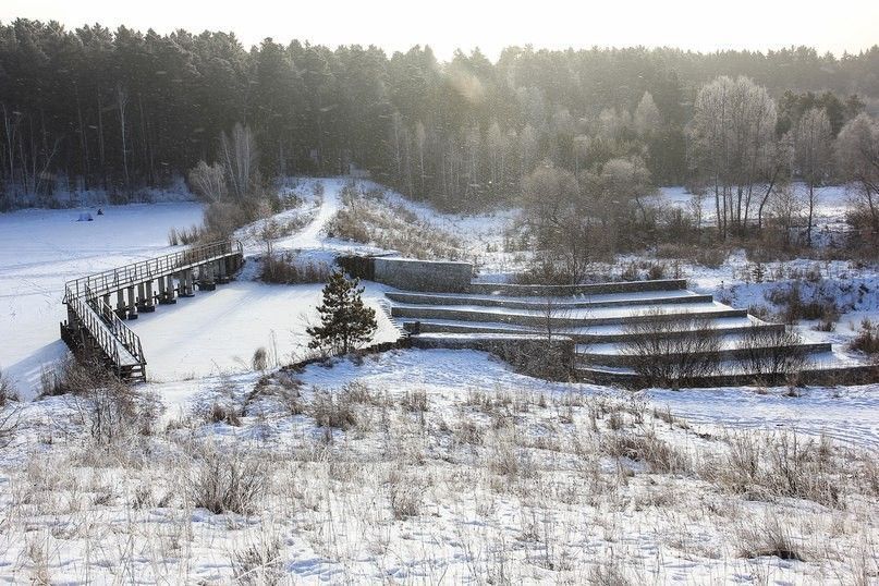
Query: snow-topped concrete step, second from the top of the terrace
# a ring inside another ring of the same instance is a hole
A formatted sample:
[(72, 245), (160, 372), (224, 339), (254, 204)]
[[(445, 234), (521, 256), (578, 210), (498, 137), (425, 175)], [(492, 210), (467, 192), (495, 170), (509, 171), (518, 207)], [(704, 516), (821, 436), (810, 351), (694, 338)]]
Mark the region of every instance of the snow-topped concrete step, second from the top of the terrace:
[(500, 295), (467, 295), (443, 293), (388, 292), (389, 300), (406, 305), (478, 305), (483, 307), (505, 307), (509, 309), (533, 309), (561, 312), (565, 309), (634, 307), (645, 305), (683, 305), (710, 303), (711, 295), (692, 293), (685, 289), (677, 291), (610, 293), (578, 295), (577, 297), (510, 297)]

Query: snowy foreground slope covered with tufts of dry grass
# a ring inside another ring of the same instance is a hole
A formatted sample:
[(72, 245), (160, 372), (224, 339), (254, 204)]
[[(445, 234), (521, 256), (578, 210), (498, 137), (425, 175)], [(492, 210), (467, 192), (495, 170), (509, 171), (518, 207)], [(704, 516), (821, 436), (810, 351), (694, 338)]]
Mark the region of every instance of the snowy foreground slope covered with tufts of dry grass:
[(705, 439), (626, 394), (254, 379), (204, 400), (244, 395), (235, 429), (192, 417), (96, 450), (84, 422), (0, 469), (0, 575), (85, 579), (100, 551), (91, 581), (273, 584), (296, 559), (354, 583), (663, 583), (679, 564), (722, 583), (773, 556), (806, 560), (786, 582), (874, 578), (875, 459), (827, 440)]

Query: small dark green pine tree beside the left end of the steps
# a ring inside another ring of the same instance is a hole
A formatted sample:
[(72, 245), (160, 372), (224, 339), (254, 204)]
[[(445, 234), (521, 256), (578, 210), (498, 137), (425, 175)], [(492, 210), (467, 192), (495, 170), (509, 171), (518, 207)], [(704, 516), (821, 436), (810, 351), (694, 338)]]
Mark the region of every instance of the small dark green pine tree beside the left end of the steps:
[(347, 354), (376, 333), (376, 310), (363, 303), (359, 279), (349, 279), (337, 270), (323, 286), (323, 303), (317, 308), (320, 326), (306, 329), (308, 347), (330, 349)]

